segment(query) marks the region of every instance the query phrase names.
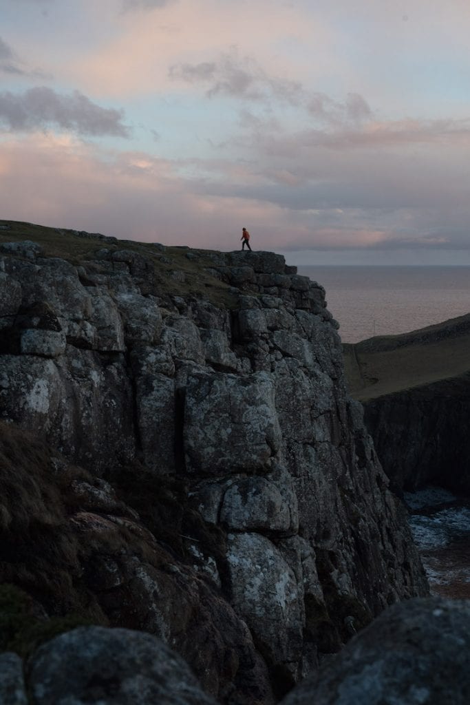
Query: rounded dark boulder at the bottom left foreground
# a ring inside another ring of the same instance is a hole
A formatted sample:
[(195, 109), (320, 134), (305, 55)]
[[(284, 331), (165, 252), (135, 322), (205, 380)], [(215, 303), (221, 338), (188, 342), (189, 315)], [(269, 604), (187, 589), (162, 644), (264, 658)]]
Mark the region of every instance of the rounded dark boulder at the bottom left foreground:
[(78, 627), (52, 639), (27, 663), (26, 682), (34, 705), (214, 705), (180, 656), (128, 629)]

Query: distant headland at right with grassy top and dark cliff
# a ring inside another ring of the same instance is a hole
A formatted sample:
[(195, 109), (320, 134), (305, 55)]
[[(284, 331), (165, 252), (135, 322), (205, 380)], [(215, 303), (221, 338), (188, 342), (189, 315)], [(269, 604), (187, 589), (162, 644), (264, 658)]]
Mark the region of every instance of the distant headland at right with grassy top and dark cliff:
[(470, 492), (470, 314), (343, 345), (352, 396), (392, 486)]

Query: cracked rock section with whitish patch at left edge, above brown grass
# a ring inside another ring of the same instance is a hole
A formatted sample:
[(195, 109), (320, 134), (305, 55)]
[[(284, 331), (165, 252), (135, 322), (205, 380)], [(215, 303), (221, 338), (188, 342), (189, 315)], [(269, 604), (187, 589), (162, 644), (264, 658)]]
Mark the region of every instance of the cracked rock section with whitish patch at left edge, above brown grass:
[(123, 366), (95, 355), (70, 346), (55, 361), (1, 355), (0, 413), (99, 473), (133, 457), (135, 436)]

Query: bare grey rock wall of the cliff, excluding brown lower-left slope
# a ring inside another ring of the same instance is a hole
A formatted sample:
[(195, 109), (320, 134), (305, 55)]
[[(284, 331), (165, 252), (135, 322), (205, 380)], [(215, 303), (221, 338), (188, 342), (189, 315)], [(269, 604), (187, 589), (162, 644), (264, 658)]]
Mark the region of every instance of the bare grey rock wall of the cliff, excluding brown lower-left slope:
[[(183, 481), (192, 511), (224, 539), (214, 551), (186, 537), (181, 560), (246, 623), (282, 694), (351, 625), (427, 585), (345, 392), (323, 288), (273, 253), (206, 257), (235, 307), (163, 296), (151, 262), (130, 251), (100, 250), (80, 267), (34, 248), (6, 252), (0, 417), (97, 477), (138, 460)], [(144, 595), (159, 615), (145, 628), (173, 639), (171, 589), (142, 570), (126, 594)], [(125, 614), (128, 626), (146, 624)], [(187, 657), (201, 670), (197, 649)]]

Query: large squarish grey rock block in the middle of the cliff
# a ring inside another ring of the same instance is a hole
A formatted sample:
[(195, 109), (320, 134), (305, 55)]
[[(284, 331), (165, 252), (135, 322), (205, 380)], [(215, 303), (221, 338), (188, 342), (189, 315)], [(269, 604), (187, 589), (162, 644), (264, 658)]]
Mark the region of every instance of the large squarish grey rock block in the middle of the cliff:
[(184, 441), (190, 472), (268, 470), (280, 439), (268, 375), (214, 373), (188, 379)]

